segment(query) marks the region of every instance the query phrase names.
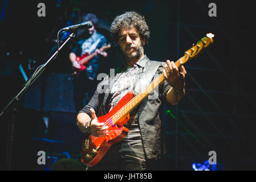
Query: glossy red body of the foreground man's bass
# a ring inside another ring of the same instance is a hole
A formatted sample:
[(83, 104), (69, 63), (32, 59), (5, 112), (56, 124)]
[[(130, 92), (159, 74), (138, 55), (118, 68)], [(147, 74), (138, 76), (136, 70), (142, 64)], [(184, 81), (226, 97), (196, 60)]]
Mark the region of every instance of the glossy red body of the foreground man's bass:
[[(98, 122), (103, 122), (105, 125), (110, 123), (112, 116), (131, 101), (133, 97), (133, 92), (127, 93), (108, 114), (97, 118)], [(109, 124), (108, 135), (105, 137), (93, 137), (90, 134), (84, 134), (81, 150), (82, 163), (90, 167), (99, 163), (112, 144), (120, 142), (126, 137), (129, 130), (123, 125), (128, 121), (129, 113), (120, 118), (116, 125)]]

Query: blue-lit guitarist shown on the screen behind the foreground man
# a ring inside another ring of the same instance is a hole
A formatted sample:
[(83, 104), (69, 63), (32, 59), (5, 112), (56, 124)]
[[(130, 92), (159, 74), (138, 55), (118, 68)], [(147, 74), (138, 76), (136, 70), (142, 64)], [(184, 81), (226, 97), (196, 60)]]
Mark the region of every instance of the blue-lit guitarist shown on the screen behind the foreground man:
[[(76, 61), (76, 56), (83, 56), (86, 53), (89, 55), (96, 52), (95, 57), (93, 57), (87, 65), (87, 69), (82, 71), (79, 76), (76, 76), (73, 80), (74, 82), (74, 101), (75, 109), (79, 111), (83, 107), (83, 101), (90, 99), (94, 93), (94, 88), (96, 86), (96, 78), (99, 71), (100, 59), (102, 57), (107, 57), (107, 52), (101, 52), (100, 47), (107, 44), (107, 40), (103, 35), (96, 31), (96, 26), (98, 19), (94, 14), (87, 14), (84, 17), (84, 21), (92, 22), (92, 28), (88, 29), (82, 37), (79, 39), (78, 44), (70, 53), (70, 61), (72, 66), (75, 68), (80, 68), (80, 64)], [(88, 94), (86, 94), (88, 93)]]

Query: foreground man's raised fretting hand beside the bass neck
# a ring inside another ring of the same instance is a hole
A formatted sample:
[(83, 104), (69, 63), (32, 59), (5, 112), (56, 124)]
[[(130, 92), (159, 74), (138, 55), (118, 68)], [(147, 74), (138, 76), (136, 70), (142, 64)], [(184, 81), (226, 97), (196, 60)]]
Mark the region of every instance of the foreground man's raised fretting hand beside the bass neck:
[(164, 65), (164, 77), (168, 84), (172, 86), (175, 90), (181, 90), (185, 86), (185, 76), (186, 70), (183, 65), (178, 71), (178, 67), (174, 64), (173, 61), (167, 60), (167, 64)]

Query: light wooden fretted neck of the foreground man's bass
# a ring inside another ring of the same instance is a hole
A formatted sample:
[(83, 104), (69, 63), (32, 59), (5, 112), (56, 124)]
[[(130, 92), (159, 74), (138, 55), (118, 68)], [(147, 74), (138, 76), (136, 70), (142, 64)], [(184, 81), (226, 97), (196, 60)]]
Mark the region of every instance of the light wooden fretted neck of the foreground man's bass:
[[(175, 63), (175, 65), (180, 68), (182, 65), (182, 61), (184, 60), (184, 56), (178, 59)], [(120, 118), (124, 117), (124, 115), (127, 115), (129, 112), (131, 112), (137, 105), (142, 102), (145, 97), (148, 96), (149, 93), (152, 92), (157, 86), (160, 86), (165, 81), (164, 73), (162, 73), (159, 77), (157, 77), (151, 84), (147, 86), (142, 92), (137, 94), (131, 101), (129, 101), (125, 106), (122, 107), (115, 115), (113, 115), (112, 118), (112, 124), (116, 125), (116, 123), (119, 121)]]

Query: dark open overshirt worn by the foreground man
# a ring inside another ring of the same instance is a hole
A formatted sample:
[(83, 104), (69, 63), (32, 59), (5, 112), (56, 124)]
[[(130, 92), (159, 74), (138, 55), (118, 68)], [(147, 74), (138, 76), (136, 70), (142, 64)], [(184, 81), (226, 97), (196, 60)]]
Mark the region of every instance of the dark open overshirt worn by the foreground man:
[[(151, 64), (151, 60), (148, 59), (146, 55), (137, 62), (140, 66), (140, 72), (143, 72)], [(160, 76), (162, 70), (164, 69), (164, 62), (162, 62), (155, 73), (155, 78)], [(97, 117), (107, 114), (107, 106), (109, 105), (108, 98), (111, 98), (111, 94), (104, 93), (106, 88), (104, 85), (109, 83), (109, 77), (105, 77), (97, 85), (94, 96), (91, 101), (86, 105), (79, 113), (87, 113), (91, 117), (90, 108), (93, 108), (97, 114)], [(160, 159), (164, 155), (164, 135), (162, 133), (162, 123), (161, 123), (161, 111), (163, 102), (168, 104), (166, 101), (166, 94), (170, 89), (170, 85), (164, 81), (162, 85), (159, 86), (157, 97), (147, 96), (138, 106), (137, 106), (137, 116), (139, 118), (139, 126), (141, 131), (141, 138), (143, 140), (143, 146), (145, 150), (145, 155), (147, 159)]]

